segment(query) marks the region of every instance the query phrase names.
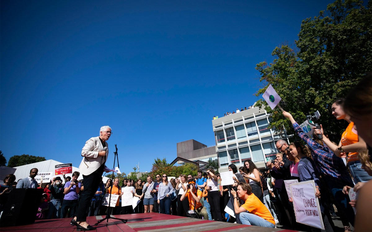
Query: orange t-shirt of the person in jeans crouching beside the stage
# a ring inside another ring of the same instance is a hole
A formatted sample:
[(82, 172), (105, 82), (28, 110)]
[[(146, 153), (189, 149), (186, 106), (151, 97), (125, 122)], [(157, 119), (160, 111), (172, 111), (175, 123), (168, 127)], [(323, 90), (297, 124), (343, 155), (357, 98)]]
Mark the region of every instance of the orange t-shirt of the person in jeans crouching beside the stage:
[(269, 210), (260, 201), (260, 199), (254, 196), (253, 193), (251, 193), (251, 195), (248, 195), (248, 198), (246, 202), (242, 205), (242, 207), (246, 209), (247, 211), (249, 211), (250, 213), (253, 213), (254, 215), (257, 215), (275, 225), (274, 218), (269, 212)]

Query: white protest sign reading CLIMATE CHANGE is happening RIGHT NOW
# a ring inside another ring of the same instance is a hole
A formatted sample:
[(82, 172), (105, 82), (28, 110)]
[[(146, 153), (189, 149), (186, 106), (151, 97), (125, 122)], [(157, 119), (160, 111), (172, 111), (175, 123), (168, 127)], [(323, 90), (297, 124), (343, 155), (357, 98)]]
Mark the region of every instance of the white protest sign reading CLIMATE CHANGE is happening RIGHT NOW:
[(314, 180), (290, 184), (296, 222), (324, 229)]

